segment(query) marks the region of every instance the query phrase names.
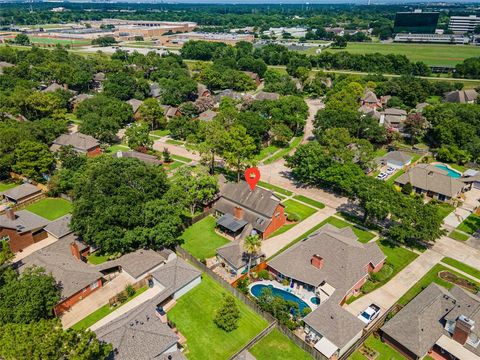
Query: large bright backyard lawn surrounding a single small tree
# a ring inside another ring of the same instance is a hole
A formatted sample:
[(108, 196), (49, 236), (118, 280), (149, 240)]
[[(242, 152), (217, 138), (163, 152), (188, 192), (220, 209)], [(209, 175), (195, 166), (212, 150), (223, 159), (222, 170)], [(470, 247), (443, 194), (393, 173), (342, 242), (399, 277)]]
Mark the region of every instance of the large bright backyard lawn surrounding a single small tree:
[(213, 319), (225, 294), (226, 290), (204, 274), (202, 283), (178, 299), (168, 312), (170, 321), (187, 338), (188, 359), (228, 359), (267, 327), (265, 319), (236, 300), (238, 328), (228, 333), (218, 328)]

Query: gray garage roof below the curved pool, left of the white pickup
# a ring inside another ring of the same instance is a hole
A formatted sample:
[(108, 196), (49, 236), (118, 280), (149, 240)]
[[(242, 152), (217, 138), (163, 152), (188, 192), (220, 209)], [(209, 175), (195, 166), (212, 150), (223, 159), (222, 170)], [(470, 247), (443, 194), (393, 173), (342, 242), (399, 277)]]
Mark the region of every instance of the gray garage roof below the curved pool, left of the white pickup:
[(332, 299), (321, 304), (308, 314), (303, 321), (315, 329), (339, 349), (357, 336), (365, 324), (335, 303)]

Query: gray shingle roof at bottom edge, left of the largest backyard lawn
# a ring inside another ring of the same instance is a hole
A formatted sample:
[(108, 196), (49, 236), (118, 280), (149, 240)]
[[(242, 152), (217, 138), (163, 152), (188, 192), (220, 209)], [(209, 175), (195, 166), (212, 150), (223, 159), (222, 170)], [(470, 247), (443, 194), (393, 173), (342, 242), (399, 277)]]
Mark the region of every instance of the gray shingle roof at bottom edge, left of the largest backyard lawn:
[(178, 336), (155, 315), (150, 302), (127, 312), (96, 331), (113, 345), (115, 360), (157, 359), (178, 342)]

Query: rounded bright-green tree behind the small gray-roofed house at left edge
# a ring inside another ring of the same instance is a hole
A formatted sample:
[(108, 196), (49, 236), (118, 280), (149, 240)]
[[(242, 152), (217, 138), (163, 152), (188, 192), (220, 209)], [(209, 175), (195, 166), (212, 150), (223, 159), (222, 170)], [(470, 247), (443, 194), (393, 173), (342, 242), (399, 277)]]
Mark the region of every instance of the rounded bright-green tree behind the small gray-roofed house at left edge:
[(42, 175), (52, 171), (54, 162), (53, 155), (45, 144), (23, 141), (13, 152), (12, 170), (29, 179), (43, 181)]

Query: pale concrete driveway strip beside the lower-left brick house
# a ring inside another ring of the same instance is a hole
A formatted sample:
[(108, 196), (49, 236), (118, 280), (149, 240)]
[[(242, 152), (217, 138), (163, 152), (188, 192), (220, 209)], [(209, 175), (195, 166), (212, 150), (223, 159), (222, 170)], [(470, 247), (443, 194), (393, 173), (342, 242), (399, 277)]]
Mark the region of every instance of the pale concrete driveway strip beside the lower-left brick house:
[(94, 291), (85, 299), (73, 305), (69, 311), (65, 312), (61, 317), (63, 328), (68, 329), (99, 307), (108, 304), (112, 297), (125, 290), (125, 287), (131, 283), (131, 278), (127, 274), (120, 273), (112, 281), (107, 282), (103, 287)]

